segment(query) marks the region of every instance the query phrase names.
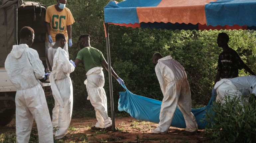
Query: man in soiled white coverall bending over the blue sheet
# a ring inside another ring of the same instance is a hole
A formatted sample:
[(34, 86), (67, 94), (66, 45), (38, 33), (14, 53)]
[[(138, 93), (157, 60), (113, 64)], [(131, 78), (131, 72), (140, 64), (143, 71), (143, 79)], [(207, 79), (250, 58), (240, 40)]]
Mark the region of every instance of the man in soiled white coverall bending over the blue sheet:
[(160, 110), (160, 122), (152, 133), (167, 133), (172, 123), (176, 107), (181, 110), (185, 122), (185, 131), (197, 131), (197, 123), (191, 112), (191, 93), (184, 67), (168, 55), (153, 54), (152, 62), (156, 64), (155, 72), (164, 98)]

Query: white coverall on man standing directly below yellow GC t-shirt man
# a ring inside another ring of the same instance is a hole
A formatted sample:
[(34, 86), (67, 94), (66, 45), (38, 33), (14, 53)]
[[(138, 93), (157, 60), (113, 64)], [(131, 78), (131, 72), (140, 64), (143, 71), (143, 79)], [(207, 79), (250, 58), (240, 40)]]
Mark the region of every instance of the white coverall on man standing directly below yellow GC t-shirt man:
[(54, 55), (52, 72), (49, 77), (55, 99), (52, 124), (57, 129), (56, 139), (65, 136), (71, 121), (73, 87), (69, 73), (74, 69), (75, 67), (67, 58), (66, 51), (59, 47)]

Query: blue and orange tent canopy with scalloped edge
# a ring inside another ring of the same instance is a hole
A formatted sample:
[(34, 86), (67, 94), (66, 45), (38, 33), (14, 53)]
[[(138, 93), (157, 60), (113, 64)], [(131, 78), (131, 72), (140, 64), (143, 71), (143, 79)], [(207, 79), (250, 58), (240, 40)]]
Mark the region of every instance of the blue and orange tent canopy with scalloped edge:
[(256, 0), (110, 1), (105, 23), (156, 29), (256, 29)]

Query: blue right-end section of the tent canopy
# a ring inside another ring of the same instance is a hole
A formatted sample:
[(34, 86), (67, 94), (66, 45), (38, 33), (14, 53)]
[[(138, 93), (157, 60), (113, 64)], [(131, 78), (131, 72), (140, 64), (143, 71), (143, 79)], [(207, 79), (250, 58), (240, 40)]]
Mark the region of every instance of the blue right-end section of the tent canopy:
[(217, 0), (205, 5), (207, 25), (256, 26), (255, 0)]

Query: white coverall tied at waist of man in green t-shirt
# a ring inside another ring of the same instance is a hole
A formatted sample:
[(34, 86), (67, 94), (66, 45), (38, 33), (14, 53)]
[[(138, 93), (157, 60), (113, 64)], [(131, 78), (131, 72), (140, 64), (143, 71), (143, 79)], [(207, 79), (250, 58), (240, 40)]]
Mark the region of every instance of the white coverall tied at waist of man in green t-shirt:
[(103, 88), (105, 80), (102, 67), (94, 67), (87, 71), (87, 79), (84, 81), (88, 92), (87, 100), (96, 111), (97, 128), (107, 128), (112, 125), (111, 119), (107, 114), (107, 97)]

